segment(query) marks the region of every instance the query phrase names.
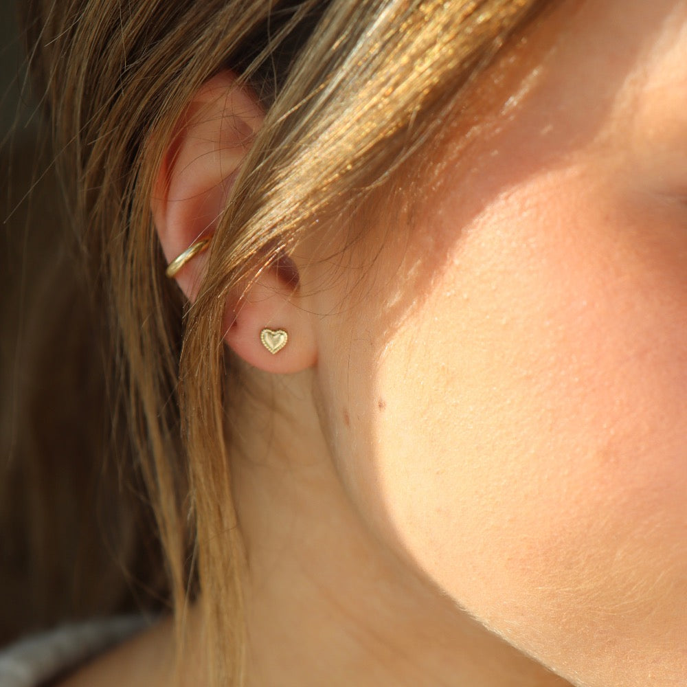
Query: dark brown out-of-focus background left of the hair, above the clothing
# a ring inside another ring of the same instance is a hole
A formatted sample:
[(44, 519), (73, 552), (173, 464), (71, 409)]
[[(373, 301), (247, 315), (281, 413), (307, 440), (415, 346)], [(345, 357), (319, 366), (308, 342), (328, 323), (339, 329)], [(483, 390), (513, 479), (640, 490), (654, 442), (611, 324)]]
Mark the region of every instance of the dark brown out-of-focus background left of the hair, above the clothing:
[(0, 0), (0, 647), (166, 598), (107, 400), (111, 333), (64, 219), (15, 11)]

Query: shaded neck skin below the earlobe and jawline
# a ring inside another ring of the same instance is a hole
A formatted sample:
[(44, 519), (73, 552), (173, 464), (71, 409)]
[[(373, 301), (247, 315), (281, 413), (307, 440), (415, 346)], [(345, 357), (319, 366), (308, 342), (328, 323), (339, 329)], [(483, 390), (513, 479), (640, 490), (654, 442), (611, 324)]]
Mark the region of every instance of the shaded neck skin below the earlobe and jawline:
[(233, 466), (249, 561), (249, 686), (567, 685), (368, 530), (305, 400), (311, 383), (292, 376), (280, 386), (288, 412), (243, 406), (263, 428)]

